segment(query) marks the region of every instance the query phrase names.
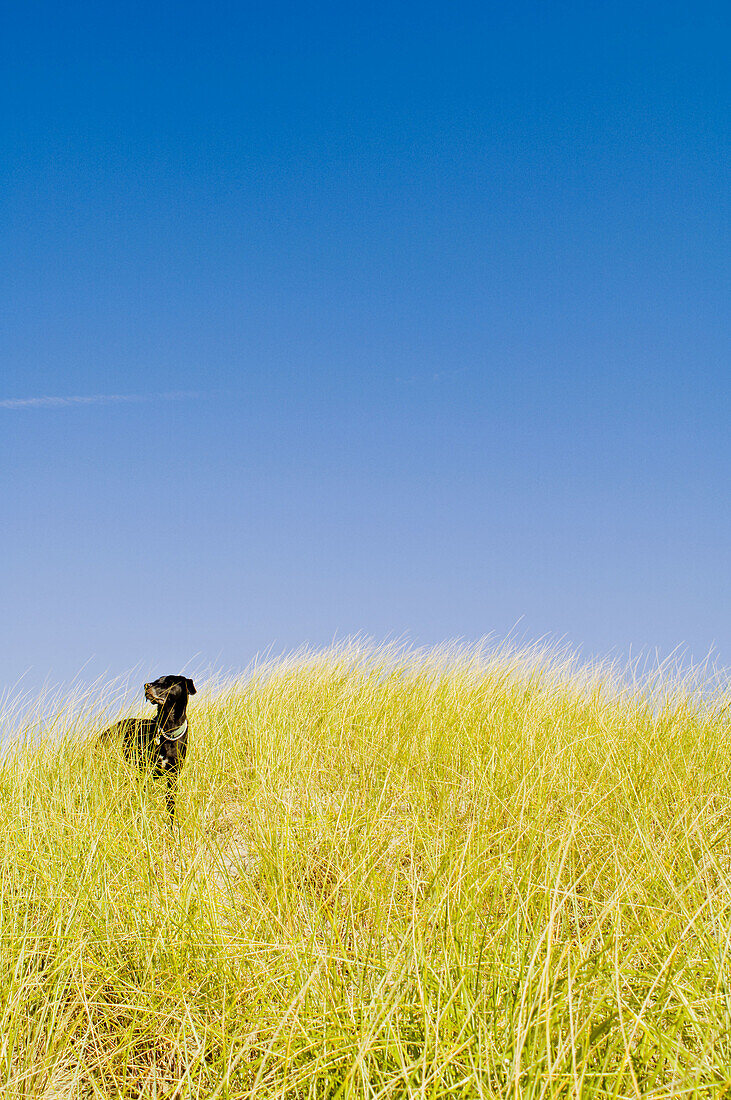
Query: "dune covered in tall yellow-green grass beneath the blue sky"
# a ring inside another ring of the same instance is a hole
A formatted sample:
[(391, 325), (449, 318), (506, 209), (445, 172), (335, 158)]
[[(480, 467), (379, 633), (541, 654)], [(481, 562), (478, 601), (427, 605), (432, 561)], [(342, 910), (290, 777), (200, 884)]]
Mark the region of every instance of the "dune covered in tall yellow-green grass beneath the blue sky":
[(192, 700), (175, 833), (67, 715), (0, 763), (0, 1096), (731, 1092), (728, 702), (304, 654)]

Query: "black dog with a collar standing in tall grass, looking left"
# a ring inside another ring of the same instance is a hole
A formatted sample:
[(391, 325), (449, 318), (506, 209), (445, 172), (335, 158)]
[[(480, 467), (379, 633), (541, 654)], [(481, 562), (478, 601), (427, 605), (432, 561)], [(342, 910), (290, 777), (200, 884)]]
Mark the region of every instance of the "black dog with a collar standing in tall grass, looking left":
[(128, 760), (167, 780), (166, 802), (175, 818), (175, 782), (188, 751), (188, 696), (196, 685), (186, 676), (159, 676), (145, 684), (145, 698), (157, 707), (155, 718), (123, 718), (104, 729), (101, 740), (121, 736)]

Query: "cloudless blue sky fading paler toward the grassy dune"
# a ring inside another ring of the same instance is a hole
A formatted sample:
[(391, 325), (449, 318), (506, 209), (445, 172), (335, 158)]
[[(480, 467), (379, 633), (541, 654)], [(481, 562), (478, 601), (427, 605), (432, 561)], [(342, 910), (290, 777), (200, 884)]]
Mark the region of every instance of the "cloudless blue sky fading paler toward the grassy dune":
[(731, 664), (727, 10), (13, 6), (0, 684)]

